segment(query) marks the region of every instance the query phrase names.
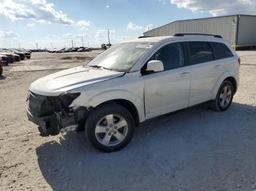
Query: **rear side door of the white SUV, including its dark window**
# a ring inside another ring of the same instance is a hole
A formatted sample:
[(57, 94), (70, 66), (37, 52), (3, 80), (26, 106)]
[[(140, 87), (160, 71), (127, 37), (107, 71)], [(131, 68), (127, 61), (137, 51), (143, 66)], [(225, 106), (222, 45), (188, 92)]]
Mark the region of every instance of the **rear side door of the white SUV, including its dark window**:
[(211, 100), (212, 90), (223, 71), (222, 60), (215, 60), (209, 42), (189, 42), (191, 88), (189, 106)]

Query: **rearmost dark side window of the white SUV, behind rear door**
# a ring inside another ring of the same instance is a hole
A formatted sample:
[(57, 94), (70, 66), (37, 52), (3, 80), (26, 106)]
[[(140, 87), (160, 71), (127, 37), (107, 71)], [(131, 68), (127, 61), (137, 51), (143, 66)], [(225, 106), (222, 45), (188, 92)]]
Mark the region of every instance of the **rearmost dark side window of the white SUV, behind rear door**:
[(230, 58), (233, 57), (233, 53), (228, 49), (228, 47), (219, 42), (210, 42), (211, 47), (214, 49), (214, 58), (222, 59), (222, 58)]

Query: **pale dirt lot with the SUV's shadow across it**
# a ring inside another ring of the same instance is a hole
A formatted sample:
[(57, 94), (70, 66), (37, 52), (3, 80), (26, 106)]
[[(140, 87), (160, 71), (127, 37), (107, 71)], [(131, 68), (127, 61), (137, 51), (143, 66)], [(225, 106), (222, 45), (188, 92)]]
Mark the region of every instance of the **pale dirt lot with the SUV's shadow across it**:
[(30, 83), (97, 53), (34, 52), (4, 67), (0, 190), (256, 190), (256, 51), (238, 52), (241, 82), (227, 112), (196, 106), (144, 122), (128, 147), (108, 154), (83, 132), (39, 136), (26, 117)]

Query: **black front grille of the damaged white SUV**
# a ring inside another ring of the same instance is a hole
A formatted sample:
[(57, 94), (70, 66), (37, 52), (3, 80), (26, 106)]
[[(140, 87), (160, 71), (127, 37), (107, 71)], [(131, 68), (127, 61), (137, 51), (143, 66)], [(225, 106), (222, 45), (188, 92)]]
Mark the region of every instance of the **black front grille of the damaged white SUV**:
[(29, 112), (37, 117), (52, 115), (57, 110), (58, 100), (58, 97), (29, 92)]

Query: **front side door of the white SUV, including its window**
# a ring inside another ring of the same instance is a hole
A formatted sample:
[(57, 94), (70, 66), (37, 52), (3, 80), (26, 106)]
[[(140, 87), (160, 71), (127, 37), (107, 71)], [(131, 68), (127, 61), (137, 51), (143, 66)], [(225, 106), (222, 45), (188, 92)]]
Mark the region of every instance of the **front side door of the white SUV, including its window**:
[(162, 61), (164, 71), (142, 72), (146, 119), (187, 107), (190, 71), (184, 59), (183, 44), (167, 44), (157, 50), (150, 60)]

